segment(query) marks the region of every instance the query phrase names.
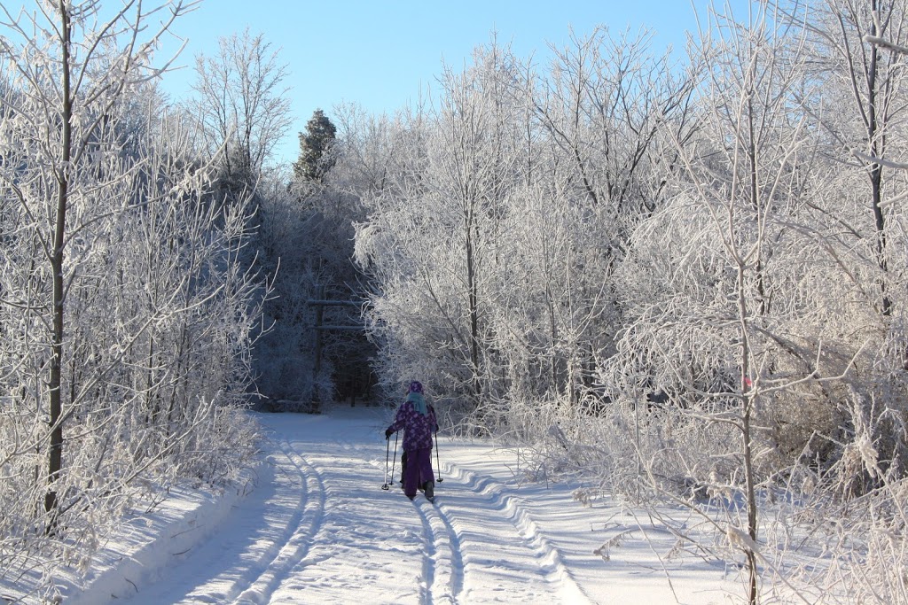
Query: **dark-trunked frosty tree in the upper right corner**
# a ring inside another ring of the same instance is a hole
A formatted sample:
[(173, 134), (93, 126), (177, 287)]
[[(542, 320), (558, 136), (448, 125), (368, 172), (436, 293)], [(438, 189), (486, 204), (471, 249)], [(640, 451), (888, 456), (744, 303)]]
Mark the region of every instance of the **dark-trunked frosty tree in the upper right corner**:
[[(870, 40), (885, 38), (891, 44), (905, 44), (908, 16), (903, 3), (891, 0), (828, 0), (818, 3), (810, 15), (804, 15), (797, 4), (780, 5), (808, 37), (814, 73), (827, 85), (827, 95), (809, 100), (830, 139), (824, 151), (857, 169), (844, 171), (846, 178), (855, 172), (864, 175), (864, 182), (855, 182), (853, 187), (864, 195), (868, 220), (872, 220), (873, 237), (868, 238), (867, 246), (880, 273), (879, 300), (874, 306), (889, 316), (895, 304), (890, 290), (897, 292), (898, 288), (888, 282), (897, 279), (899, 271), (898, 263), (890, 268), (893, 253), (887, 223), (891, 211), (885, 202), (887, 193), (899, 193), (902, 181), (897, 164), (904, 148), (900, 134), (906, 112), (900, 100), (906, 71), (901, 55), (886, 53)], [(832, 107), (836, 111), (829, 111)], [(891, 275), (893, 270), (896, 276)]]

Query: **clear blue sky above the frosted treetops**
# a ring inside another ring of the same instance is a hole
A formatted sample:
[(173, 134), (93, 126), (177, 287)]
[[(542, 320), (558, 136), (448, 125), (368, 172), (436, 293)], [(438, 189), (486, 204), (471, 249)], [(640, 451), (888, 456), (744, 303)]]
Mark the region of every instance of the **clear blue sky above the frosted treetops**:
[[(113, 0), (108, 0), (113, 1)], [(189, 91), (196, 54), (215, 54), (219, 37), (264, 34), (291, 73), (295, 122), (279, 153), (295, 160), (297, 133), (312, 112), (331, 116), (338, 102), (356, 102), (370, 112), (393, 113), (434, 82), (442, 61), (469, 61), (475, 46), (498, 40), (521, 57), (547, 59), (548, 43), (568, 44), (606, 24), (613, 32), (648, 27), (657, 48), (682, 49), (685, 31), (696, 29), (696, 11), (708, 0), (204, 0), (174, 26), (188, 39), (177, 63), (186, 67), (164, 78), (174, 97)], [(745, 0), (733, 0), (735, 9)], [(744, 9), (745, 10), (745, 9)]]

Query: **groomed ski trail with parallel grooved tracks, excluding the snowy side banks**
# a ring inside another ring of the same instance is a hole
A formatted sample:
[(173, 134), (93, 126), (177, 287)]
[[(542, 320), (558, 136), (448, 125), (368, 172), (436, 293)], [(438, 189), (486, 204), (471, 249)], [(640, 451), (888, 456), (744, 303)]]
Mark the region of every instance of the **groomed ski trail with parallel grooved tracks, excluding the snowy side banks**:
[(449, 462), (435, 504), (410, 503), (400, 483), (381, 490), (384, 418), (339, 412), (263, 415), (269, 473), (230, 531), (128, 602), (584, 602), (505, 483)]

